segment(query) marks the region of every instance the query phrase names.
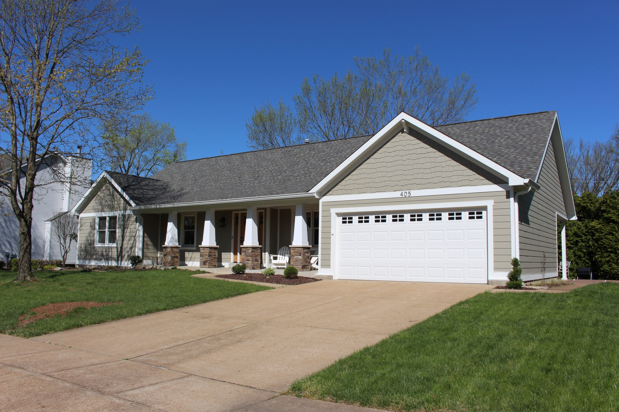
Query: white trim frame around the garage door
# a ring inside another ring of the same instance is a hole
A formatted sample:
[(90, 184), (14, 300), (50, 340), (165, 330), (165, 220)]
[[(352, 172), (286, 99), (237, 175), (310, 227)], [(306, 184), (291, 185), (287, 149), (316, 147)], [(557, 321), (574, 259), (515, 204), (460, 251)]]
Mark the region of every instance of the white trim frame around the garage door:
[(424, 209), (462, 209), (462, 208), (486, 208), (486, 239), (487, 239), (487, 281), (493, 280), (498, 275), (501, 277), (502, 272), (495, 275), (495, 240), (494, 240), (494, 215), (493, 207), (494, 200), (481, 200), (470, 202), (448, 202), (448, 203), (417, 203), (417, 204), (391, 204), (383, 206), (364, 206), (361, 208), (332, 208), (331, 209), (331, 267), (324, 268), (318, 272), (322, 275), (332, 275), (333, 279), (339, 279), (339, 273), (337, 267), (339, 264), (339, 254), (337, 253), (337, 240), (339, 238), (339, 228), (342, 225), (338, 224), (337, 219), (340, 218), (340, 214), (353, 214), (353, 213), (374, 213), (379, 212), (408, 212)]

